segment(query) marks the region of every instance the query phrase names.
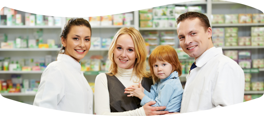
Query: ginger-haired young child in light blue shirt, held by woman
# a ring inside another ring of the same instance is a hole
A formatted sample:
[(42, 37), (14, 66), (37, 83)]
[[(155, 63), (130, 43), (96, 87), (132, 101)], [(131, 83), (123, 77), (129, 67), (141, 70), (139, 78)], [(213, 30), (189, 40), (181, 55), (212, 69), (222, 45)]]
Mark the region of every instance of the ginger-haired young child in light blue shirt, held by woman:
[(150, 93), (146, 91), (141, 83), (132, 85), (125, 89), (129, 96), (141, 99), (140, 105), (150, 101), (156, 101), (152, 107), (166, 106), (161, 111), (180, 112), (183, 88), (179, 76), (181, 76), (181, 63), (175, 49), (169, 45), (156, 47), (149, 56), (150, 74), (155, 80), (151, 86)]

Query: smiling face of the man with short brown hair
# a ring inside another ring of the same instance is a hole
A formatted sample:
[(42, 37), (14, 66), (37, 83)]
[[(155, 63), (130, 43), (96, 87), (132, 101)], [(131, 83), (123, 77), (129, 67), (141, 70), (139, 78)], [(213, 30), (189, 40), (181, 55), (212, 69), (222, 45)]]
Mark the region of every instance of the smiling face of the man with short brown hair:
[(205, 31), (199, 18), (181, 21), (177, 33), (182, 50), (195, 59), (213, 46), (212, 29), (209, 27)]

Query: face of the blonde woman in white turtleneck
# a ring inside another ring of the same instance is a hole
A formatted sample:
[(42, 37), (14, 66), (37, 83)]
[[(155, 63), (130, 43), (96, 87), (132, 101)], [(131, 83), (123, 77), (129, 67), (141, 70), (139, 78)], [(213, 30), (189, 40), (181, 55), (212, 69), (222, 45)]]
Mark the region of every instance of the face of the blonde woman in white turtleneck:
[(130, 35), (124, 34), (117, 38), (114, 59), (117, 66), (122, 69), (134, 68), (136, 54), (134, 42)]

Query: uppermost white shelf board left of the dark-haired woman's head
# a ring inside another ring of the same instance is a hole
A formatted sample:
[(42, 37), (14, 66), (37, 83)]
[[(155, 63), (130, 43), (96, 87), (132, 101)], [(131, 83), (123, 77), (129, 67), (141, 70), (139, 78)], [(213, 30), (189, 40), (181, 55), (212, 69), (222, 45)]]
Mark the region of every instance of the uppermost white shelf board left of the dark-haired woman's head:
[(58, 28), (61, 29), (61, 26), (26, 26), (26, 25), (16, 25), (16, 26), (7, 26), (7, 25), (0, 25), (0, 28)]

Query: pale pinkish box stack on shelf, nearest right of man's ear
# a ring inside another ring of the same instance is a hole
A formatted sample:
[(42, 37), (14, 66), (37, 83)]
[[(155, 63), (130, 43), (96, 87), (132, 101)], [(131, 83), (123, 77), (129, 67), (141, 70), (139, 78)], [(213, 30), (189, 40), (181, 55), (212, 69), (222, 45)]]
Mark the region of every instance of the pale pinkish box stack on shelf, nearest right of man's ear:
[(225, 30), (224, 28), (212, 28), (213, 46), (224, 46)]

